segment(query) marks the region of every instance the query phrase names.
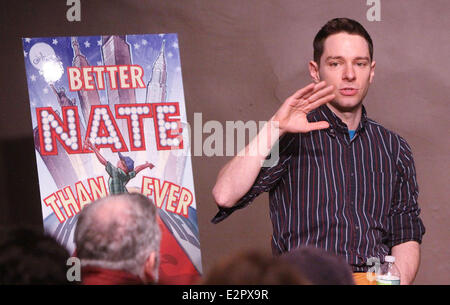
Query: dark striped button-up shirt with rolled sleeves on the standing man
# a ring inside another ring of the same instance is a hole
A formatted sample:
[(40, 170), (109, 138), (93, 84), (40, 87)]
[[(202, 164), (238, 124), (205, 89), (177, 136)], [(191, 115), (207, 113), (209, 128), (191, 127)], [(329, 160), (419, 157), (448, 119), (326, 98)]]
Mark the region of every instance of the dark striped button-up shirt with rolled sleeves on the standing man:
[(381, 262), (390, 248), (421, 243), (418, 186), (406, 141), (367, 118), (352, 139), (326, 105), (308, 114), (330, 127), (287, 134), (279, 161), (263, 167), (252, 188), (232, 208), (219, 208), (217, 223), (269, 192), (275, 255), (312, 245), (346, 258), (353, 271), (367, 271), (367, 260)]

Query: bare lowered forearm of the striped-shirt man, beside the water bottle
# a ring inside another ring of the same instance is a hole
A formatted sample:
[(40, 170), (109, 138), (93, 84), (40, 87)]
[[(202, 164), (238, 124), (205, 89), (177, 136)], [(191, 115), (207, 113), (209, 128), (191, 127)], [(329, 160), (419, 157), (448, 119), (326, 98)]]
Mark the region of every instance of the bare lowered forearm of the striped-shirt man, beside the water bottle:
[(391, 249), (395, 256), (395, 264), (400, 269), (400, 284), (413, 283), (420, 264), (420, 245), (416, 241), (408, 241), (398, 244)]

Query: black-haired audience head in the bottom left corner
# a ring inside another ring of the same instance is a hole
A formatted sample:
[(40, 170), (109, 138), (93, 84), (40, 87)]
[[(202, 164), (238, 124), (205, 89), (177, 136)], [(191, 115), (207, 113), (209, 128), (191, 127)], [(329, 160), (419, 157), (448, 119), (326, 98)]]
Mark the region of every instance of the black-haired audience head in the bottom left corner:
[(1, 229), (0, 284), (70, 284), (69, 253), (42, 230)]

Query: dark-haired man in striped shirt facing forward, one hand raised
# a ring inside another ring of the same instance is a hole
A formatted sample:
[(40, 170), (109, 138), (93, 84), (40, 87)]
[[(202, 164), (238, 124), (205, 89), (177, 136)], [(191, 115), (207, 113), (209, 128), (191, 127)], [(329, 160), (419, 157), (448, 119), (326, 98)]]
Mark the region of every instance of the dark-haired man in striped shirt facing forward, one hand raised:
[[(314, 83), (289, 97), (245, 153), (219, 172), (213, 222), (268, 191), (274, 254), (324, 248), (365, 278), (359, 272), (370, 261), (391, 253), (402, 284), (410, 284), (425, 228), (408, 144), (367, 118), (362, 104), (375, 72), (372, 39), (358, 22), (337, 18), (313, 45)], [(262, 168), (278, 137), (278, 163)]]

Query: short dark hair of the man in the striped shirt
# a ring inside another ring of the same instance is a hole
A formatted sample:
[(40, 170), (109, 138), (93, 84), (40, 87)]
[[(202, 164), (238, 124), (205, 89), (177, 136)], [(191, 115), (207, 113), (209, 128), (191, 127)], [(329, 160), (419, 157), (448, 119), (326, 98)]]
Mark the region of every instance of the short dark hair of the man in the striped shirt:
[(370, 38), (369, 33), (366, 29), (358, 22), (348, 18), (335, 18), (328, 21), (319, 32), (317, 32), (316, 37), (314, 38), (313, 47), (314, 47), (314, 61), (320, 65), (320, 58), (322, 57), (325, 39), (328, 36), (338, 33), (348, 33), (355, 34), (363, 37), (367, 44), (369, 45), (369, 54), (370, 60), (373, 59), (373, 43), (372, 38)]

